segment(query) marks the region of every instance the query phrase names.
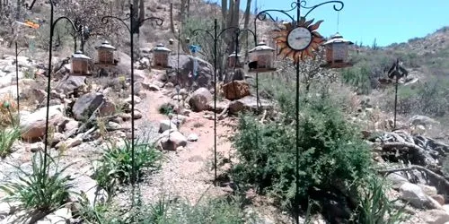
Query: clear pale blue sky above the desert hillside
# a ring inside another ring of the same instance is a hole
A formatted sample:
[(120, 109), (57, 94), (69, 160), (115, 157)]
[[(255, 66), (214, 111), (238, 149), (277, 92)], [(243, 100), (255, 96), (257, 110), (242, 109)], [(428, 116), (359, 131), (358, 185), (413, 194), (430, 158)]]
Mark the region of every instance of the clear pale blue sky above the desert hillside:
[[(287, 10), (293, 2), (251, 0), (251, 12), (256, 1), (260, 11)], [(308, 0), (307, 5), (323, 2), (325, 0)], [(345, 5), (339, 13), (333, 10), (332, 4), (323, 4), (313, 10), (306, 19), (315, 19), (315, 22), (323, 20), (318, 31), (324, 37), (330, 37), (339, 30), (345, 39), (357, 43), (362, 41), (364, 45), (371, 46), (376, 39), (379, 47), (425, 37), (444, 26), (449, 26), (449, 0), (342, 0), (342, 2)], [(246, 1), (241, 0), (241, 4), (244, 10)], [(304, 15), (306, 12), (302, 9), (301, 14)], [(283, 18), (282, 13), (271, 15)]]

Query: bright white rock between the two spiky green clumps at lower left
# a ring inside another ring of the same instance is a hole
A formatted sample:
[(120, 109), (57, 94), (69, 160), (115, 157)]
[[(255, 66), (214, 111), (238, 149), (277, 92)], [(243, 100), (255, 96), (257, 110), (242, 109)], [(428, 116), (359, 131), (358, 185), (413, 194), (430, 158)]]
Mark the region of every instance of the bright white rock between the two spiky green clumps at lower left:
[(87, 177), (85, 175), (81, 175), (75, 180), (72, 181), (74, 188), (74, 195), (72, 195), (73, 202), (75, 202), (76, 194), (82, 194), (84, 193), (87, 197), (87, 200), (89, 201), (89, 204), (91, 208), (94, 207), (94, 203), (102, 203), (107, 202), (108, 200), (108, 193), (101, 189), (101, 187), (97, 184), (95, 180), (93, 180), (91, 177)]

